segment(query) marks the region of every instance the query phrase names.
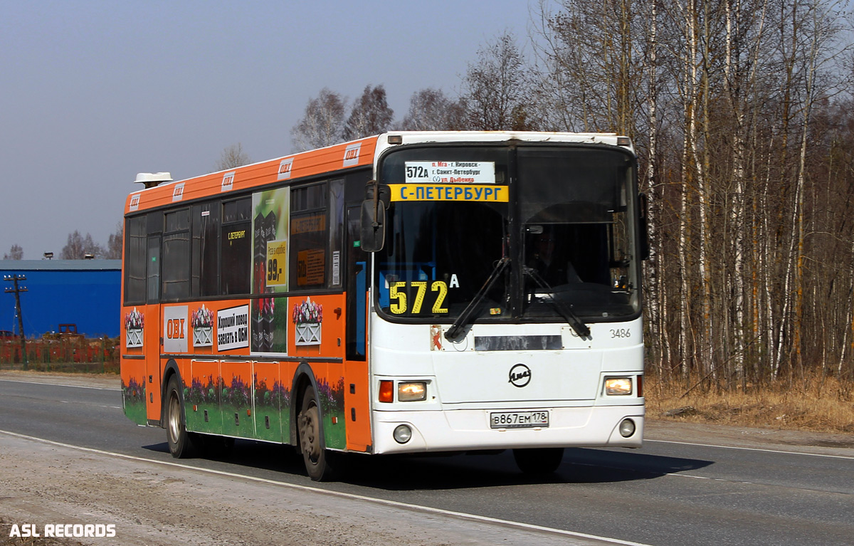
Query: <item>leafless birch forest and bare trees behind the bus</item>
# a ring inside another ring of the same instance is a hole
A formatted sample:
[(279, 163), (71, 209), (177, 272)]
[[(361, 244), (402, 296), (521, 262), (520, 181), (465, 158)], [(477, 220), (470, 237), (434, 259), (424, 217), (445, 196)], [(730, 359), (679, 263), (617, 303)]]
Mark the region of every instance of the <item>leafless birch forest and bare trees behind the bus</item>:
[[(389, 129), (629, 136), (649, 197), (648, 385), (674, 404), (831, 396), (854, 432), (852, 37), (834, 0), (542, 2), (459, 90), (415, 91), (395, 121), (383, 85), (352, 103), (324, 89), (291, 136), (295, 151)], [(249, 161), (235, 144), (214, 167)], [(93, 251), (120, 253), (120, 230)], [(62, 257), (83, 257), (73, 243)]]

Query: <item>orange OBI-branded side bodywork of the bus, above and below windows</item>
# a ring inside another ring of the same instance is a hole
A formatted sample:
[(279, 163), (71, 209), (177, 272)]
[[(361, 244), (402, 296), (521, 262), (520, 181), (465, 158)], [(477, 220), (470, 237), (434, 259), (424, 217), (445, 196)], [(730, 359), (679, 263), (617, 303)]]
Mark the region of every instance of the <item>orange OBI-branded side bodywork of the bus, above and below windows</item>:
[[(372, 167), (377, 137), (337, 144), (253, 165), (164, 183), (134, 191), (125, 214), (180, 207), (196, 199), (288, 185), (290, 180), (336, 175)], [(124, 275), (122, 276), (124, 294)], [(261, 303), (261, 302), (264, 303)], [(276, 311), (265, 305), (275, 306)], [(284, 306), (285, 313), (279, 306)], [(297, 323), (297, 308), (322, 308), (316, 324)], [(266, 317), (259, 315), (264, 308)], [(326, 447), (371, 449), (371, 415), (366, 361), (346, 359), (346, 296), (271, 294), (204, 301), (161, 302), (122, 308), (121, 380), (125, 413), (140, 425), (161, 423), (164, 374), (177, 367), (190, 432), (291, 443), (292, 421), (301, 393), (295, 373), (311, 367), (323, 409)], [(199, 315), (208, 316), (201, 324)], [(257, 315), (257, 316), (256, 316)], [(219, 318), (231, 320), (218, 324)], [(195, 320), (195, 324), (194, 324)], [(266, 321), (266, 322), (265, 322)], [(235, 326), (237, 322), (237, 326)], [(243, 329), (242, 329), (243, 328)], [(257, 347), (254, 332), (275, 342)]]

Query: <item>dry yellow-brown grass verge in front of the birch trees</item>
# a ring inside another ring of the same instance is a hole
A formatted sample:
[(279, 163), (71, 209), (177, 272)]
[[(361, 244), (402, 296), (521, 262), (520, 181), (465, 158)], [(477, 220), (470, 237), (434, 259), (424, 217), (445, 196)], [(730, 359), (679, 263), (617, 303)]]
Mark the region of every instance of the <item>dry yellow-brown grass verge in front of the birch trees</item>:
[(685, 382), (646, 376), (646, 415), (652, 419), (774, 429), (854, 433), (854, 384), (807, 378), (744, 391), (688, 390)]

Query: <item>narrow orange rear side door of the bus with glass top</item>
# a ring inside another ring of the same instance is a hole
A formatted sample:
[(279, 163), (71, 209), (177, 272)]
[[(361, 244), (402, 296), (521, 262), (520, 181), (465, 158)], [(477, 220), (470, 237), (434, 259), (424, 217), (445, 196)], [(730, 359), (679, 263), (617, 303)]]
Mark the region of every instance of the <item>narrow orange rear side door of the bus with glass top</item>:
[(143, 354), (145, 355), (145, 401), (148, 420), (161, 418), (161, 349), (163, 331), (161, 328), (160, 306), (160, 259), (161, 236), (152, 235), (148, 240), (148, 260), (146, 261), (145, 288), (145, 328), (143, 329)]

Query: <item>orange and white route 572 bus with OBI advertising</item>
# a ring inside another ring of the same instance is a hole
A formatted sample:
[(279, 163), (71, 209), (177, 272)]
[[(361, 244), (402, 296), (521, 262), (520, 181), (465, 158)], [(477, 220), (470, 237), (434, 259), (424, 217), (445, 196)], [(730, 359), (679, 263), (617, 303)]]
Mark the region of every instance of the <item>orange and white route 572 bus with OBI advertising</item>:
[(125, 414), (176, 457), (640, 447), (644, 220), (629, 138), (389, 132), (125, 206)]

